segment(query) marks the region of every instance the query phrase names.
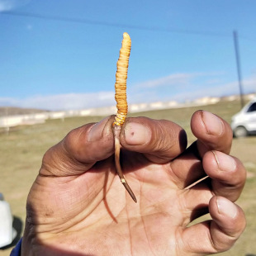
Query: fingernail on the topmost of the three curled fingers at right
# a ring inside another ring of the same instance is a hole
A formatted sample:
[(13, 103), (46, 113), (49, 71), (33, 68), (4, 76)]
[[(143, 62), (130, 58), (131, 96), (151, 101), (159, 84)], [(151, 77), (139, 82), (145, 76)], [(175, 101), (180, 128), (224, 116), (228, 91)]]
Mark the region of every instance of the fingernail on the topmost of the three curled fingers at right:
[(202, 111), (202, 121), (209, 135), (222, 134), (224, 124), (218, 116), (207, 111)]

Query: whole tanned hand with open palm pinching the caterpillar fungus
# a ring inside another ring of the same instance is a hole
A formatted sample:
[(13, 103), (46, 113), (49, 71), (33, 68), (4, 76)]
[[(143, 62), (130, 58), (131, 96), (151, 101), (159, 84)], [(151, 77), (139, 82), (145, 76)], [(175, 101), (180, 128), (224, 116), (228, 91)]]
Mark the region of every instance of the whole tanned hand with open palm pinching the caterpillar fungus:
[[(116, 175), (113, 117), (72, 130), (49, 149), (27, 200), (22, 255), (204, 255), (244, 230), (235, 205), (245, 169), (231, 157), (232, 131), (206, 111), (192, 116), (197, 141), (171, 121), (128, 118), (121, 164), (138, 203)], [(201, 183), (187, 188), (198, 179)], [(212, 220), (188, 225), (210, 212)]]

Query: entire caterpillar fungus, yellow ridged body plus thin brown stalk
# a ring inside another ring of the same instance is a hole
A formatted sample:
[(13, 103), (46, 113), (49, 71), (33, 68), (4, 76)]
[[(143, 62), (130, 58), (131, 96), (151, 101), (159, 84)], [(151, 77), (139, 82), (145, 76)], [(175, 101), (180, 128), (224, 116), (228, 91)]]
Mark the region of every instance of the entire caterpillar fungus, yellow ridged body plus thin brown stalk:
[(130, 36), (125, 32), (123, 34), (123, 40), (121, 43), (121, 50), (119, 54), (119, 59), (116, 64), (116, 108), (117, 113), (115, 121), (113, 122), (113, 134), (115, 138), (115, 163), (116, 163), (116, 173), (118, 174), (121, 183), (126, 187), (127, 192), (129, 192), (130, 197), (137, 202), (135, 194), (130, 189), (130, 186), (126, 182), (126, 178), (121, 170), (120, 164), (120, 133), (121, 126), (126, 121), (126, 115), (128, 111), (127, 100), (126, 100), (126, 79), (128, 72), (128, 64), (130, 57)]

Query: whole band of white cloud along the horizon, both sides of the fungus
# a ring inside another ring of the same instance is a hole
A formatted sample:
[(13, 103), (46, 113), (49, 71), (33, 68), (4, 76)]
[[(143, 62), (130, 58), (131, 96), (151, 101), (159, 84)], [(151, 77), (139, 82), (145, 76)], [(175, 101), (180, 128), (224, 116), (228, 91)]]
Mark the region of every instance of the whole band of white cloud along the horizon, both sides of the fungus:
[[(200, 97), (221, 97), (239, 94), (238, 82), (224, 83), (221, 75), (223, 74), (178, 73), (153, 81), (137, 83), (128, 88), (128, 103), (168, 100), (185, 102)], [(211, 80), (215, 76), (216, 80)], [(218, 80), (217, 78), (220, 79)], [(176, 82), (174, 83), (174, 81)], [(164, 87), (166, 83), (168, 85), (172, 83), (172, 86), (164, 89), (159, 88)], [(245, 78), (243, 80), (243, 88), (244, 93), (256, 92), (256, 76)], [(46, 110), (88, 109), (115, 105), (115, 92), (111, 91), (34, 96), (23, 99), (0, 97), (0, 106), (31, 107)]]

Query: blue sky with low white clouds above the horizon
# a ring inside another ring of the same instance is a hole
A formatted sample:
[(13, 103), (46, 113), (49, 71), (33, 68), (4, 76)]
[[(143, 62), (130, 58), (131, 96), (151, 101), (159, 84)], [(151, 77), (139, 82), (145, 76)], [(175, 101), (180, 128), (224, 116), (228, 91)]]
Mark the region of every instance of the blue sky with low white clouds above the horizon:
[(122, 33), (129, 103), (256, 91), (255, 0), (0, 0), (0, 106), (115, 105)]

